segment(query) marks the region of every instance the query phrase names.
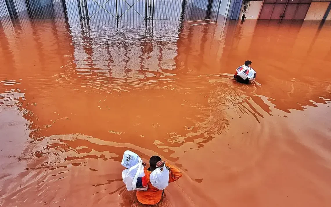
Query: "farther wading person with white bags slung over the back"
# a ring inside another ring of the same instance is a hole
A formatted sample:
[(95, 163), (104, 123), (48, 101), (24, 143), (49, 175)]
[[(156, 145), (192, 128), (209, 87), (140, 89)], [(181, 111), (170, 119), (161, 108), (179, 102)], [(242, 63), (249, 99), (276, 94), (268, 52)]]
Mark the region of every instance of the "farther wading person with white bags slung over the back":
[(245, 61), (245, 64), (238, 67), (236, 73), (234, 74), (234, 78), (236, 78), (237, 82), (249, 84), (250, 81), (253, 81), (256, 78), (256, 72), (251, 68), (252, 61)]

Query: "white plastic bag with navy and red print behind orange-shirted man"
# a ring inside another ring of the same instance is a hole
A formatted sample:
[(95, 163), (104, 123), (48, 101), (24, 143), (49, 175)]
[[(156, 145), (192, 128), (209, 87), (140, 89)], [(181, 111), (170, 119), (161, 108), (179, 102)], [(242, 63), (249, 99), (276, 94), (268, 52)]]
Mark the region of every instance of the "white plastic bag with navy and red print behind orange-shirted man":
[(128, 191), (147, 190), (147, 180), (141, 161), (129, 169), (123, 170), (122, 179)]

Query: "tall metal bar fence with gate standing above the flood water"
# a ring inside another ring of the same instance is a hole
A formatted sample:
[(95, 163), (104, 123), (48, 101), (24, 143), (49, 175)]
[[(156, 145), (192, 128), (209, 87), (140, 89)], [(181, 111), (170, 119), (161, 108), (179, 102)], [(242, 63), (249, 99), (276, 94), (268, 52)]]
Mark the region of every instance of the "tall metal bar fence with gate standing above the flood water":
[(216, 21), (221, 0), (0, 0), (0, 20), (64, 19), (135, 24)]

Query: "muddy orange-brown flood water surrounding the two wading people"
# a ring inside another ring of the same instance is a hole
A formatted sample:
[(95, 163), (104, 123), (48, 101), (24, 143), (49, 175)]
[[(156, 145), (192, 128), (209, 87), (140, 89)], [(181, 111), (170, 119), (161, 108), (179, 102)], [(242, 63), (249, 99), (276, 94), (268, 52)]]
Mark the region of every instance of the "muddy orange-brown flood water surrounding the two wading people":
[[(141, 206), (125, 150), (183, 172), (157, 206), (330, 206), (330, 33), (327, 21), (2, 24), (0, 206)], [(250, 85), (232, 79), (246, 60)]]

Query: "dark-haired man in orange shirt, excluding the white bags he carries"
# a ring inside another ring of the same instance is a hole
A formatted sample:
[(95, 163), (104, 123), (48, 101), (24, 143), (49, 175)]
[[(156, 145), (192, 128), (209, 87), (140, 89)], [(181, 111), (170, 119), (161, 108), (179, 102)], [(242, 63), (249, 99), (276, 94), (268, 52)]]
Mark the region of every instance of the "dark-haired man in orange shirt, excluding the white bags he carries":
[[(148, 169), (144, 168), (147, 180), (147, 190), (137, 191), (136, 195), (140, 203), (145, 205), (154, 205), (161, 201), (163, 190), (159, 190), (158, 188), (152, 186), (151, 181), (149, 180), (149, 176), (153, 170), (157, 169), (158, 167), (162, 167), (163, 163), (164, 162), (162, 161), (161, 157), (154, 155), (149, 160), (150, 167)], [(143, 162), (143, 165), (146, 166), (146, 163)], [(167, 162), (166, 168), (169, 170), (169, 183), (174, 182), (182, 177), (182, 173)]]

